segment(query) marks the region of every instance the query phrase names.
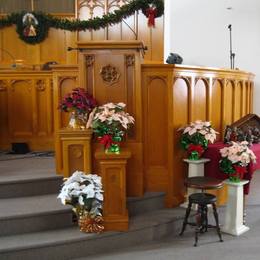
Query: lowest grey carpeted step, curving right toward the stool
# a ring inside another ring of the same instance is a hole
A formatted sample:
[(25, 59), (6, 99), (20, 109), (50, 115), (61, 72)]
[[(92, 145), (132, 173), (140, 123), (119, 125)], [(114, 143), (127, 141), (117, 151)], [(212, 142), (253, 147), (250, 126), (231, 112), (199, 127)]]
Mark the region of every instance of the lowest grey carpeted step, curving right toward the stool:
[(78, 227), (0, 238), (1, 260), (65, 260), (113, 251), (160, 239), (179, 231), (184, 209), (143, 212), (130, 219), (127, 232), (85, 234)]

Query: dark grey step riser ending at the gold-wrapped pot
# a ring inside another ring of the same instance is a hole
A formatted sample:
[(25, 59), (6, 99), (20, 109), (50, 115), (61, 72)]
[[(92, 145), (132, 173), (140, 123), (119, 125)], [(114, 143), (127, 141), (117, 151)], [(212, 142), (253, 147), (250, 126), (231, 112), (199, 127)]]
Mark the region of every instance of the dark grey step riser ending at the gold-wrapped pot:
[[(0, 220), (0, 237), (72, 226), (72, 212)], [(1, 258), (0, 258), (1, 259)]]

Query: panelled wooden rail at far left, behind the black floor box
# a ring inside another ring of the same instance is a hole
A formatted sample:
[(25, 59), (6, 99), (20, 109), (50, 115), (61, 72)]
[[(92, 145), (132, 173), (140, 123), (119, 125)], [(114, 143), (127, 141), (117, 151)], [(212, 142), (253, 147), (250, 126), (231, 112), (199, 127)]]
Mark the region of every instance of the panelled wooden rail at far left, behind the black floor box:
[(0, 71), (0, 111), (0, 149), (15, 142), (54, 149), (51, 72)]

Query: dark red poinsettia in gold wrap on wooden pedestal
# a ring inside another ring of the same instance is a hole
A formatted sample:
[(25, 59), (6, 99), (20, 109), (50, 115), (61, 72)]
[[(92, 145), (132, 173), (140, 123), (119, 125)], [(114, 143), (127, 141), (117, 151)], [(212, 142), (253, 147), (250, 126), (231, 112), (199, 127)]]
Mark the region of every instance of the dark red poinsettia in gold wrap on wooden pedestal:
[(85, 129), (88, 115), (96, 106), (95, 98), (84, 88), (75, 88), (64, 96), (59, 109), (71, 113), (68, 127)]

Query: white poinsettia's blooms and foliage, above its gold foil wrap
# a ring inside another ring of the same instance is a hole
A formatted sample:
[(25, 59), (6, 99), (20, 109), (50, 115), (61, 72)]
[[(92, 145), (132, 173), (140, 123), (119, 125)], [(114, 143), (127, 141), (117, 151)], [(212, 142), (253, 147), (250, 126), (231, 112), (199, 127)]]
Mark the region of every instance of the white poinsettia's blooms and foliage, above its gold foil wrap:
[(63, 183), (58, 198), (62, 204), (72, 205), (78, 216), (86, 212), (92, 217), (102, 216), (101, 177), (76, 171)]

